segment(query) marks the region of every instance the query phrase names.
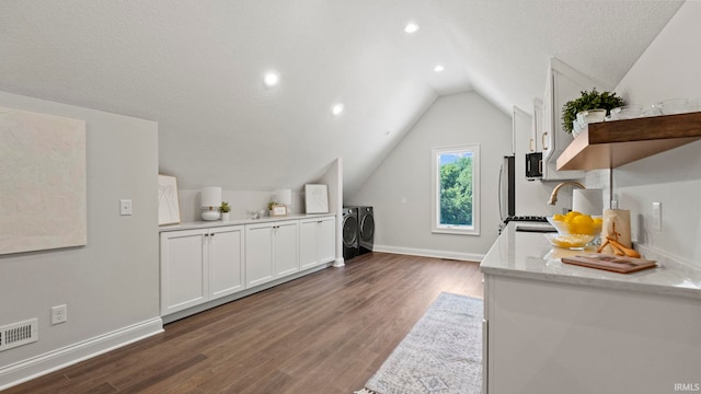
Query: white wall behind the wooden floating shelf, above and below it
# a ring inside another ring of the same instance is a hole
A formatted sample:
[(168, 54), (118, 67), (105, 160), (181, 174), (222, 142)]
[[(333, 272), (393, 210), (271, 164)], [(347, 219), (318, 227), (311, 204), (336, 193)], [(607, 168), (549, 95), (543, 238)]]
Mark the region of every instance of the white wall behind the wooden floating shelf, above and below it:
[[(642, 105), (701, 99), (699, 21), (701, 2), (687, 1), (616, 91)], [(587, 182), (599, 173), (587, 174)], [(701, 141), (616, 169), (613, 194), (621, 208), (631, 210), (634, 239), (701, 267)], [(653, 201), (663, 204), (663, 231), (650, 225)]]

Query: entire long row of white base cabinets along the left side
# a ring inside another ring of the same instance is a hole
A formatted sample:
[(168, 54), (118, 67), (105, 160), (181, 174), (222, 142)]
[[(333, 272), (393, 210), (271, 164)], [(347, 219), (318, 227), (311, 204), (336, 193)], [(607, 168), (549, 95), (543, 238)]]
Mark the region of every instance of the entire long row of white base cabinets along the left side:
[(160, 235), (161, 316), (168, 318), (273, 287), (335, 259), (332, 215), (189, 225)]

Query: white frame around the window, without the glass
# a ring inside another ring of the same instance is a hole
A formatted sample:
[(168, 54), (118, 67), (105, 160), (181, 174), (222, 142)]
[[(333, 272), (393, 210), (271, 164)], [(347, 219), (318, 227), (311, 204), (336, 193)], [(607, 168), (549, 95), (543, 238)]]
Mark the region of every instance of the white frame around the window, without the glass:
[[(440, 224), (440, 155), (444, 153), (472, 152), (472, 225)], [(432, 149), (430, 222), (433, 233), (480, 235), (480, 144)]]

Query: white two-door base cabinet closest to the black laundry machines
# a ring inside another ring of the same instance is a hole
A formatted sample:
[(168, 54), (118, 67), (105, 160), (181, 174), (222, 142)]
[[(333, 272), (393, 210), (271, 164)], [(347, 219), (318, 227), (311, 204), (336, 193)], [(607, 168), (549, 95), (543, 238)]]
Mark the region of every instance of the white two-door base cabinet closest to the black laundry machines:
[(300, 268), (312, 268), (336, 257), (336, 220), (334, 217), (304, 219), (299, 223)]

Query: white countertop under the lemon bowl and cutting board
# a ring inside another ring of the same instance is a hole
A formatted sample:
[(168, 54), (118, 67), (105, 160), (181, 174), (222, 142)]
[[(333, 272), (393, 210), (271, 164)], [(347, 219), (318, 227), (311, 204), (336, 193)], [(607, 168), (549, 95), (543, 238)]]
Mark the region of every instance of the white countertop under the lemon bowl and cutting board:
[(542, 233), (516, 232), (517, 224), (510, 222), (492, 245), (480, 264), (482, 273), (701, 299), (700, 269), (658, 260), (657, 268), (617, 274), (564, 264), (561, 257), (583, 252), (553, 247)]

